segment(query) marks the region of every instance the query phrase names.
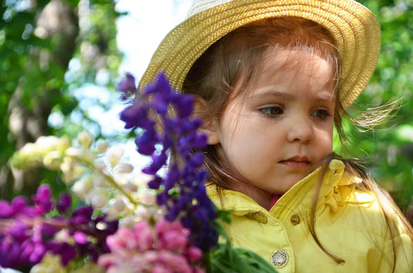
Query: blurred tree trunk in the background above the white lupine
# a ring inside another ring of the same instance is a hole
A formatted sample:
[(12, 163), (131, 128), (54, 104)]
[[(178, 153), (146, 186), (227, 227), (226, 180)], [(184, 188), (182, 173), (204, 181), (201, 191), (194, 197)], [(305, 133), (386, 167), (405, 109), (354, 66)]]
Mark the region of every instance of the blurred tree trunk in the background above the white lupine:
[[(59, 67), (61, 81), (64, 72), (76, 49), (78, 37), (78, 16), (76, 10), (64, 0), (51, 0), (36, 19), (34, 34), (53, 43), (52, 50), (34, 47), (25, 69), (19, 79), (8, 105), (9, 129), (14, 138), (15, 148), (20, 149), (28, 142), (34, 142), (41, 135), (47, 135), (49, 117), (56, 101), (59, 101), (61, 90), (58, 87), (47, 88), (45, 83), (41, 91), (27, 90), (25, 83), (30, 82), (31, 71), (52, 74), (51, 67)], [(37, 70), (36, 70), (37, 69)], [(30, 96), (30, 106), (24, 98)], [(53, 98), (53, 99), (52, 99)], [(56, 99), (57, 98), (57, 99)], [(13, 192), (32, 195), (41, 182), (41, 170), (10, 170), (9, 166), (0, 166), (0, 197), (10, 199)]]

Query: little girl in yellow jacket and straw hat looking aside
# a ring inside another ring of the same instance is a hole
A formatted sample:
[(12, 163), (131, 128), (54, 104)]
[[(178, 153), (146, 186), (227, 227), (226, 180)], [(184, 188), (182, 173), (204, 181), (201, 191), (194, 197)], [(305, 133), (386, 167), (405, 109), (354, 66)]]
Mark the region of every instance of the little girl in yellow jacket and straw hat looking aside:
[(207, 190), (235, 246), (278, 272), (413, 272), (412, 228), (333, 127), (366, 87), (380, 26), (352, 0), (195, 1), (153, 55), (193, 94), (209, 137)]

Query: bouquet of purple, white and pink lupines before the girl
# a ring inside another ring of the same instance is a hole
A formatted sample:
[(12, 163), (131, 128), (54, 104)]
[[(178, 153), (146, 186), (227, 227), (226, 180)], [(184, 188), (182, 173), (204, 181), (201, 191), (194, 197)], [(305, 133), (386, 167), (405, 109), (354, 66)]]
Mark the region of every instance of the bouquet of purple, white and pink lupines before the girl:
[[(138, 132), (138, 153), (151, 164), (125, 162), (123, 146), (41, 137), (25, 145), (13, 168), (60, 170), (70, 193), (54, 198), (42, 184), (30, 199), (0, 200), (0, 272), (275, 272), (260, 256), (233, 248), (223, 225), (230, 212), (207, 196), (207, 145), (193, 118), (193, 97), (171, 89), (164, 74), (136, 94), (127, 74), (119, 85), (131, 104), (120, 114)], [(218, 241), (218, 239), (220, 241)]]

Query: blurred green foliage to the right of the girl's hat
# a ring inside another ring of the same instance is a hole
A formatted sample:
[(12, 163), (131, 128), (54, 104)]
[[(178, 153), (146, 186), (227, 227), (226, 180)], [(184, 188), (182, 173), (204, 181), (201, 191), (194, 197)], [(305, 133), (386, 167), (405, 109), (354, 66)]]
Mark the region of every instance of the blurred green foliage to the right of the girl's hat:
[(363, 132), (348, 126), (352, 140), (348, 146), (352, 155), (371, 162), (374, 178), (404, 209), (413, 197), (413, 1), (359, 2), (379, 19), (382, 47), (372, 80), (350, 113), (357, 116), (399, 98), (401, 107), (390, 122), (374, 130)]

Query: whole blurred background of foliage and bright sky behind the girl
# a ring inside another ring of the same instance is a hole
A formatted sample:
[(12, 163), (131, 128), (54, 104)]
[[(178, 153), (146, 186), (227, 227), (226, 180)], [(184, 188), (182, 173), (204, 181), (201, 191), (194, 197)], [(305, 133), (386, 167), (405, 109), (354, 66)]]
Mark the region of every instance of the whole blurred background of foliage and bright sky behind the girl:
[[(192, 0), (0, 0), (0, 198), (31, 195), (40, 183), (65, 187), (54, 171), (11, 170), (8, 160), (41, 135), (96, 138), (131, 147), (118, 120), (116, 85), (139, 80), (158, 43)], [(413, 0), (359, 0), (381, 23), (381, 56), (350, 112), (402, 98), (389, 122), (361, 132), (346, 120), (346, 155), (368, 162), (374, 178), (413, 220)], [(63, 185), (63, 186), (62, 186)]]

